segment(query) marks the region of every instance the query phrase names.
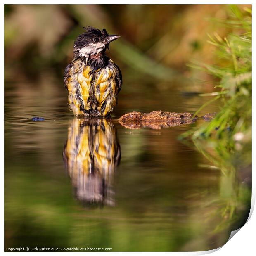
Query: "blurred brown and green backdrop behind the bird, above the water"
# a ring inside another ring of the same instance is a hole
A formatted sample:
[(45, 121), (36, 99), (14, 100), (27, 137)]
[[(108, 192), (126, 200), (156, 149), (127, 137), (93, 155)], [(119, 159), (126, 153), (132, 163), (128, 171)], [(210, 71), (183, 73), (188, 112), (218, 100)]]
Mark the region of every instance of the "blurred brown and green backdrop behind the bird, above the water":
[(186, 64), (215, 60), (207, 35), (239, 30), (218, 22), (231, 14), (226, 5), (5, 5), (6, 76), (26, 71), (36, 76), (49, 66), (61, 74), (72, 58), (73, 41), (90, 25), (121, 35), (109, 55), (121, 67), (124, 85), (135, 78), (171, 81), (181, 74), (190, 85), (195, 71)]

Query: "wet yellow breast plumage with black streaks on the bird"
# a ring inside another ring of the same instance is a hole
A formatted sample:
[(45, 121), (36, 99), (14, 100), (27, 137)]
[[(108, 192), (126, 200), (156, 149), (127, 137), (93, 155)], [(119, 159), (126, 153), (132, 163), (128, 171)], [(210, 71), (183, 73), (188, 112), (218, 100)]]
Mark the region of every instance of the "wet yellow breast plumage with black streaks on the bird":
[[(100, 115), (107, 115), (112, 111), (116, 105), (115, 72), (108, 66), (91, 72), (91, 67), (81, 60), (73, 63), (73, 76), (69, 78), (68, 90), (69, 104), (75, 115), (84, 114), (81, 106), (86, 111), (89, 109), (102, 111), (104, 104), (106, 106), (104, 113)], [(92, 97), (95, 100), (92, 101)]]

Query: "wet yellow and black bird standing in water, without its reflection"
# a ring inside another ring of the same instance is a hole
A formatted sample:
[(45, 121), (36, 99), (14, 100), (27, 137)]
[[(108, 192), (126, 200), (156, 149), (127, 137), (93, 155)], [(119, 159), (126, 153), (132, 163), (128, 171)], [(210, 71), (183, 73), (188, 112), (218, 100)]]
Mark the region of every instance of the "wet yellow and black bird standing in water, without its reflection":
[(85, 30), (74, 43), (73, 59), (64, 73), (69, 106), (75, 116), (107, 117), (116, 106), (122, 75), (105, 52), (120, 36), (90, 26)]

